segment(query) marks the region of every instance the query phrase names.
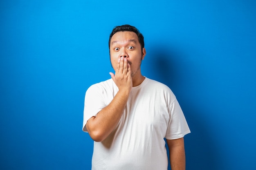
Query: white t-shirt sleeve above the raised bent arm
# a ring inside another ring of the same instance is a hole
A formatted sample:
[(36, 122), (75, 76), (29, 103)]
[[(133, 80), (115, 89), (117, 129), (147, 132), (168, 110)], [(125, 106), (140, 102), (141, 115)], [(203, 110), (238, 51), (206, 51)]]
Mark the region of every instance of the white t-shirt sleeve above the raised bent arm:
[(103, 89), (99, 84), (94, 84), (88, 88), (85, 93), (84, 110), (83, 110), (83, 131), (88, 132), (85, 125), (87, 121), (97, 116), (99, 111), (106, 107), (103, 100)]

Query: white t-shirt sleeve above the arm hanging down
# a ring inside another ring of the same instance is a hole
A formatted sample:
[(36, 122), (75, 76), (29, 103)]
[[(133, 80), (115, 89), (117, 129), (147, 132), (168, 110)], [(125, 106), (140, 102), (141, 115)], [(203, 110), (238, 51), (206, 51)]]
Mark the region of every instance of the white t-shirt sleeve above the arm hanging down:
[(168, 109), (170, 119), (168, 121), (166, 139), (179, 139), (190, 133), (189, 126), (176, 98)]

